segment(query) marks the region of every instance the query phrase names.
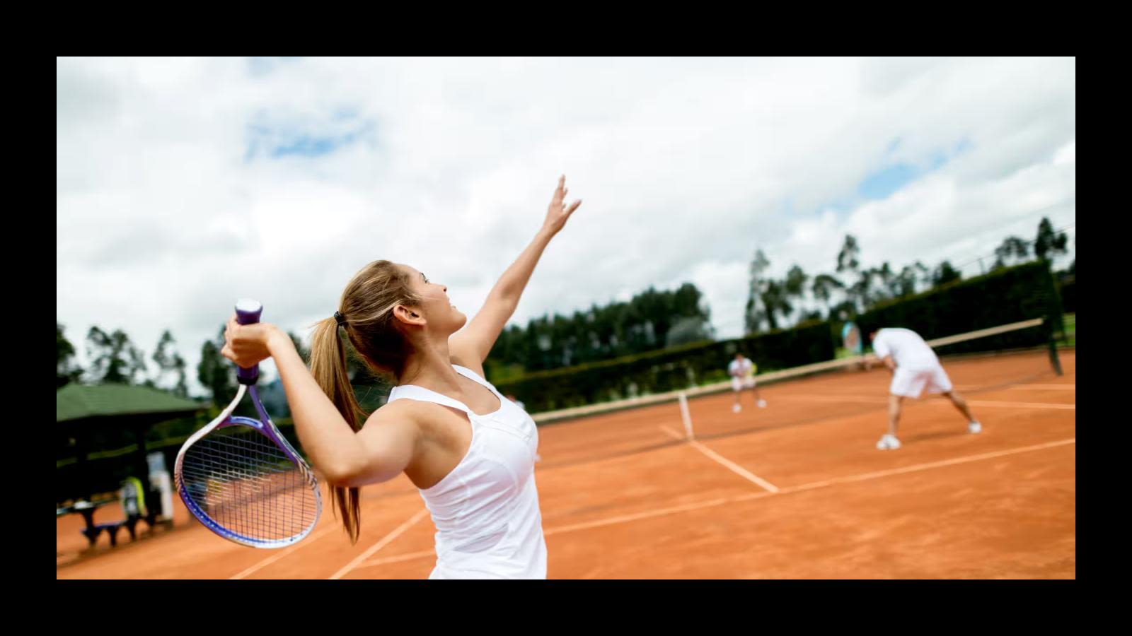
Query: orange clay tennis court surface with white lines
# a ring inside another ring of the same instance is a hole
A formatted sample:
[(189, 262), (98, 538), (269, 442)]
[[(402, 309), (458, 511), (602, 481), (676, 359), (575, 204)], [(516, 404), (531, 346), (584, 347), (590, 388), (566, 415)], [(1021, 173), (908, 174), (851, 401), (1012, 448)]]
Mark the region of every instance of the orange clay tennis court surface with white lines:
[[(899, 450), (887, 372), (722, 393), (542, 426), (535, 479), (550, 578), (1075, 578), (1075, 353), (944, 360), (984, 432), (943, 398), (906, 401)], [(426, 578), (434, 527), (403, 475), (362, 489), (361, 538), (324, 512), (306, 540), (256, 550), (178, 507), (175, 527), (93, 550), (55, 524), (57, 578)], [(122, 518), (101, 508), (97, 522)], [(140, 524), (139, 527), (145, 527)], [(145, 535), (145, 532), (143, 532)]]

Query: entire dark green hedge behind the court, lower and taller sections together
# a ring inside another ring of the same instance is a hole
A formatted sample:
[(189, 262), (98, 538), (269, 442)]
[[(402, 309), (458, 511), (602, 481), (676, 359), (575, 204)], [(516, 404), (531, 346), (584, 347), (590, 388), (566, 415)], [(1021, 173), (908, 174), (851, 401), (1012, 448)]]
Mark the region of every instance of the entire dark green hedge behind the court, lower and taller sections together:
[[(1049, 319), (1045, 328), (976, 338), (943, 350), (954, 354), (1048, 344), (1049, 328), (1057, 333), (1063, 329), (1061, 315), (1062, 301), (1048, 264), (1028, 263), (881, 303), (858, 316), (857, 323), (864, 329), (907, 327), (933, 340), (1030, 318)], [(496, 383), (496, 387), (538, 413), (724, 379), (723, 369), (736, 351), (754, 360), (760, 372), (832, 360), (839, 340), (839, 324), (811, 323), (734, 341), (695, 343), (528, 373)]]

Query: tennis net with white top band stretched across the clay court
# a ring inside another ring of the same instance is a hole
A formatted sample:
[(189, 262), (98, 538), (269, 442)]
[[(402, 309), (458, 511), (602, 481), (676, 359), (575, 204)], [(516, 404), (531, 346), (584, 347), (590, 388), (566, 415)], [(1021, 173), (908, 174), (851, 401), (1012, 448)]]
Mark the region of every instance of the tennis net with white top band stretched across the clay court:
[[(977, 395), (1061, 373), (1057, 351), (1041, 318), (927, 342), (955, 390), (963, 394)], [(721, 367), (728, 362), (721, 360)], [(866, 362), (871, 362), (871, 370), (866, 370)], [(732, 411), (735, 398), (728, 380), (535, 414), (540, 464), (650, 452), (683, 444), (689, 435), (711, 439), (884, 412), (891, 376), (875, 356), (866, 354), (767, 371), (755, 380), (766, 406), (757, 407), (754, 392), (743, 390), (739, 413)]]

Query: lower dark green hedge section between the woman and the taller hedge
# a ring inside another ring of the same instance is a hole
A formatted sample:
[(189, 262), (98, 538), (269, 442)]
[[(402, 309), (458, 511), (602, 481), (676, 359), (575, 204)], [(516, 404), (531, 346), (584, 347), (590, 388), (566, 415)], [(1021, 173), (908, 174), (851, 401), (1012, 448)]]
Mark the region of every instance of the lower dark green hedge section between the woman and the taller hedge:
[(531, 413), (554, 411), (723, 379), (724, 369), (737, 351), (758, 364), (760, 372), (830, 360), (834, 353), (830, 325), (809, 323), (745, 338), (692, 343), (538, 371), (500, 381), (496, 388), (517, 397)]

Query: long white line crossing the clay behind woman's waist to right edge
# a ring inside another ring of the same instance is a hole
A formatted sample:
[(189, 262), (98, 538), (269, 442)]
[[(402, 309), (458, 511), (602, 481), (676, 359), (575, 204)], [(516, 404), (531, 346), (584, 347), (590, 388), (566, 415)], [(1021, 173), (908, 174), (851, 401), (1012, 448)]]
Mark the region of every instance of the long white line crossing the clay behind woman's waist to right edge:
[[(790, 495), (792, 492), (803, 492), (806, 490), (816, 490), (818, 488), (826, 488), (830, 485), (835, 485), (838, 483), (851, 482), (851, 481), (867, 481), (873, 479), (880, 479), (883, 476), (889, 476), (893, 474), (911, 473), (918, 471), (927, 471), (932, 469), (937, 469), (942, 466), (952, 466), (955, 464), (967, 464), (970, 462), (978, 462), (981, 459), (989, 459), (992, 457), (1003, 457), (1005, 455), (1017, 455), (1019, 453), (1031, 453), (1034, 450), (1043, 450), (1046, 448), (1054, 448), (1057, 446), (1065, 446), (1069, 444), (1077, 444), (1077, 438), (1061, 439), (1057, 441), (1050, 441), (1047, 444), (1038, 444), (1035, 446), (1023, 446), (1020, 448), (1011, 448), (1007, 450), (997, 450), (994, 453), (983, 453), (980, 455), (966, 455), (963, 457), (955, 457), (954, 459), (945, 459), (943, 462), (931, 462), (927, 464), (915, 464), (911, 466), (904, 466), (902, 469), (893, 469), (891, 471), (877, 471), (873, 473), (864, 473), (859, 475), (849, 475), (843, 478), (835, 478), (825, 481), (816, 481), (813, 483), (804, 483), (801, 485), (788, 487), (780, 489), (778, 492), (755, 492), (749, 495), (740, 495), (738, 497), (722, 498), (722, 499), (711, 499), (709, 501), (701, 501), (698, 504), (686, 504), (684, 506), (674, 506), (670, 508), (659, 508), (655, 510), (646, 510), (643, 513), (636, 513), (633, 515), (621, 515), (617, 517), (607, 517), (604, 519), (598, 519), (593, 522), (580, 523), (574, 525), (567, 525), (561, 527), (554, 527), (543, 531), (544, 536), (550, 536), (552, 534), (561, 534), (566, 532), (575, 532), (578, 530), (589, 530), (591, 527), (601, 527), (606, 525), (615, 525), (619, 523), (626, 523), (637, 519), (644, 519), (650, 517), (660, 517), (664, 515), (672, 515), (677, 513), (684, 513), (688, 510), (696, 510), (701, 508), (711, 508), (714, 506), (722, 506), (724, 504), (738, 504), (741, 501), (751, 501), (752, 499), (762, 499), (764, 497), (777, 497), (781, 495)], [(413, 558), (423, 558), (432, 555), (432, 552), (415, 552), (413, 555), (402, 555), (401, 557), (392, 557), (391, 559), (396, 560), (410, 560)], [(370, 561), (367, 565), (377, 565), (376, 561)]]

